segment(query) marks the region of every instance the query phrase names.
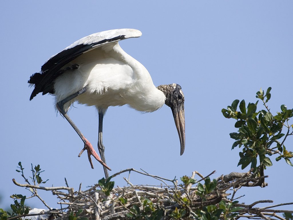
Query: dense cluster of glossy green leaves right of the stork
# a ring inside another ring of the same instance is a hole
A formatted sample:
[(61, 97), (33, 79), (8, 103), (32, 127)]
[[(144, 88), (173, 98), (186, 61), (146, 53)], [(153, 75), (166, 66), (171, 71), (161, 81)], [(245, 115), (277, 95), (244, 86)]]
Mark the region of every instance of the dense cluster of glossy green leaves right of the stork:
[[(227, 109), (222, 109), (224, 117), (236, 119), (235, 128), (239, 128), (238, 132), (230, 133), (230, 137), (235, 140), (232, 149), (236, 146), (242, 147), (239, 152), (240, 160), (238, 166), (246, 168), (251, 164), (251, 168), (259, 172), (268, 166), (272, 166), (270, 157), (277, 154), (276, 161), (282, 158), (287, 164), (293, 166), (290, 158), (293, 157), (291, 151), (286, 150), (285, 140), (293, 134), (293, 125), (289, 124), (289, 119), (293, 117), (293, 109), (287, 109), (282, 104), (277, 114), (272, 114), (267, 106), (267, 102), (271, 98), (271, 87), (264, 92), (262, 89), (256, 93), (256, 98), (260, 99), (265, 109), (257, 111), (258, 101), (248, 103), (246, 107), (243, 99), (240, 104), (236, 99)], [(240, 111), (237, 110), (239, 104)], [(285, 133), (282, 133), (284, 128)], [(281, 139), (283, 138), (283, 139)]]

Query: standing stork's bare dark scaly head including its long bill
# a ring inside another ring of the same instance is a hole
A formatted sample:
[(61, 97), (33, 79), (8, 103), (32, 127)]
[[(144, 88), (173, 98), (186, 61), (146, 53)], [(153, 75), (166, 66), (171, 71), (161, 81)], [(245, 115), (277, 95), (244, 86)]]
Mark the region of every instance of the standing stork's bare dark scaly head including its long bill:
[(165, 96), (165, 104), (172, 110), (175, 125), (180, 139), (180, 155), (185, 149), (185, 116), (184, 116), (184, 95), (181, 86), (173, 83), (169, 85), (160, 85), (157, 89), (161, 90)]

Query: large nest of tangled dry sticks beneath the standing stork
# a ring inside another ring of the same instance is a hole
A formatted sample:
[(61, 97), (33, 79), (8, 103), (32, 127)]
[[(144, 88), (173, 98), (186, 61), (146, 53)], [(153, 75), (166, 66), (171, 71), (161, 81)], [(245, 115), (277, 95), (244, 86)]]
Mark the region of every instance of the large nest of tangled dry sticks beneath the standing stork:
[[(105, 190), (99, 184), (92, 186), (86, 191), (81, 191), (81, 189), (75, 191), (73, 188), (68, 186), (40, 187), (28, 184), (19, 184), (15, 180), (13, 180), (13, 182), (18, 186), (32, 188), (35, 191), (36, 189), (52, 191), (52, 193), (60, 199), (58, 204), (62, 206), (62, 209), (51, 210), (47, 204), (44, 204), (50, 209), (50, 211), (46, 213), (54, 214), (54, 218), (57, 220), (71, 219), (70, 215), (76, 216), (77, 219), (81, 220), (83, 220), (84, 217), (96, 220), (130, 219), (130, 216), (134, 216), (132, 214), (135, 214), (135, 210), (143, 212), (147, 206), (149, 210), (161, 210), (161, 219), (171, 219), (170, 214), (174, 213), (174, 211), (178, 211), (178, 209), (183, 208), (188, 212), (185, 212), (182, 219), (193, 219), (190, 218), (190, 216), (193, 216), (194, 212), (196, 212), (198, 209), (201, 209), (202, 207), (216, 205), (222, 200), (226, 202), (232, 202), (234, 200), (236, 191), (241, 187), (265, 187), (267, 184), (264, 182), (264, 179), (267, 176), (254, 177), (251, 174), (251, 171), (252, 170), (249, 170), (246, 173), (232, 172), (228, 175), (222, 175), (218, 177), (216, 179), (217, 186), (215, 190), (209, 194), (206, 194), (204, 198), (200, 197), (197, 193), (198, 185), (193, 187), (194, 182), (188, 185), (178, 185), (178, 180), (168, 180), (134, 169), (123, 170), (112, 175), (111, 177), (120, 175), (123, 172), (129, 172), (129, 174), (130, 172), (138, 172), (142, 175), (147, 175), (160, 180), (162, 182), (161, 186), (132, 185), (129, 179), (126, 179), (125, 177), (124, 179), (127, 182), (127, 186), (113, 188), (110, 190), (110, 192), (107, 192), (107, 190)], [(212, 175), (214, 172), (209, 175)], [(195, 175), (198, 175), (201, 178), (200, 180), (196, 181), (196, 183), (205, 180), (209, 176), (208, 175), (203, 177), (200, 173), (194, 171), (188, 178), (194, 179)], [(168, 185), (166, 182), (171, 184)], [(231, 189), (232, 191), (230, 192), (232, 193), (227, 193), (227, 191)], [(228, 196), (230, 196), (230, 198), (228, 198)], [(235, 204), (235, 206), (241, 207), (241, 209), (237, 209), (236, 212), (241, 217), (258, 219), (261, 217), (262, 219), (269, 219), (268, 217), (264, 216), (263, 213), (265, 213), (265, 215), (273, 216), (276, 215), (275, 212), (280, 211), (268, 209), (270, 207), (253, 207), (255, 204), (262, 202), (272, 201), (260, 200), (251, 205), (238, 203)], [(271, 207), (280, 205), (284, 204)], [(284, 210), (281, 211), (284, 212)], [(292, 213), (292, 211), (285, 211)], [(78, 213), (78, 215), (76, 215), (76, 213)], [(246, 215), (247, 213), (249, 215)]]

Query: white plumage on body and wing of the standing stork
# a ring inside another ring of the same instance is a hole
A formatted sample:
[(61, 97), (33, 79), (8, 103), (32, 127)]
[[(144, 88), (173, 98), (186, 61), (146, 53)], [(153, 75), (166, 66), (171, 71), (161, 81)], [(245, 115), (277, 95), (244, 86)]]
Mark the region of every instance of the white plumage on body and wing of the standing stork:
[[(133, 29), (105, 31), (82, 38), (66, 49), (80, 43), (92, 43), (94, 37), (111, 38), (117, 35), (117, 32), (127, 38), (141, 35), (140, 31)], [(125, 104), (138, 111), (151, 112), (165, 103), (165, 95), (154, 86), (147, 69), (125, 53), (118, 42), (104, 43), (88, 50), (63, 68), (73, 64), (79, 65), (79, 68), (63, 73), (54, 82), (56, 102), (83, 87), (87, 87), (87, 91), (69, 101), (64, 106), (66, 111), (74, 101), (96, 106), (98, 111), (104, 113), (109, 106)]]

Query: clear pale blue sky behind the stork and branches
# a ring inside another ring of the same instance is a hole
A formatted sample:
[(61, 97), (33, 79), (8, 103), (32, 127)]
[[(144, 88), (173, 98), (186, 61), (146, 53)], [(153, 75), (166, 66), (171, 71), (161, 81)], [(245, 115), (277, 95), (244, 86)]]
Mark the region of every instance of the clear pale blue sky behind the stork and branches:
[[(83, 142), (54, 110), (53, 97), (39, 94), (29, 101), (27, 80), (52, 55), (74, 41), (100, 31), (135, 28), (140, 38), (120, 46), (150, 72), (156, 86), (180, 84), (185, 95), (186, 147), (180, 143), (171, 109), (140, 114), (110, 107), (104, 117), (103, 143), (111, 174), (133, 167), (172, 179), (197, 170), (216, 178), (236, 171), (239, 148), (231, 150), (229, 133), (235, 120), (225, 119), (222, 108), (234, 99), (255, 102), (255, 93), (272, 87), (268, 102), (273, 113), (281, 104), (293, 108), (292, 1), (3, 1), (0, 7), (1, 44), (1, 154), (0, 207), (9, 207), (11, 194), (29, 195), (12, 178), (24, 183), (30, 164), (45, 170), (45, 186), (82, 189), (103, 177), (102, 166), (92, 170)], [(96, 146), (98, 114), (94, 107), (74, 105), (69, 116)], [(258, 108), (262, 109), (259, 104)], [(292, 137), (286, 145), (293, 150)], [(272, 199), (292, 202), (293, 167), (285, 160), (265, 170), (268, 187), (242, 188), (241, 202)], [(293, 161), (292, 161), (293, 162)], [(244, 171), (247, 172), (249, 168)], [(126, 185), (120, 175), (115, 185)], [(159, 184), (131, 174), (133, 184)], [(50, 192), (40, 192), (51, 207), (59, 207)], [(32, 207), (44, 208), (38, 199)], [(262, 206), (262, 205), (261, 205)], [(287, 207), (293, 210), (293, 207)]]

